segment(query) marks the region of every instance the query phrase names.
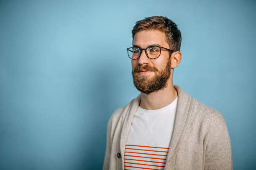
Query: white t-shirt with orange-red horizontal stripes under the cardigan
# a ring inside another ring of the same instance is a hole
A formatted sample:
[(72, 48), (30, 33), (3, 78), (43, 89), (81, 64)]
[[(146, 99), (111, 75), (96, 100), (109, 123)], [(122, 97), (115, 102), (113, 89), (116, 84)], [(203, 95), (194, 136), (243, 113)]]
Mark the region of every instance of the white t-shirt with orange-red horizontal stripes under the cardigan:
[(157, 110), (138, 107), (125, 145), (125, 169), (164, 169), (177, 101), (178, 97), (171, 104)]

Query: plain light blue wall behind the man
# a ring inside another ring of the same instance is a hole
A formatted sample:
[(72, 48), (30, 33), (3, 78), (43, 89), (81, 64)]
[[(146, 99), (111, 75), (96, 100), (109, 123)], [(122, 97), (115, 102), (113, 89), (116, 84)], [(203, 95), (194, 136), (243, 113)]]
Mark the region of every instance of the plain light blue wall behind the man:
[(174, 84), (219, 110), (236, 170), (256, 166), (256, 2), (0, 1), (0, 169), (101, 169), (113, 111), (133, 86), (131, 30), (182, 32)]

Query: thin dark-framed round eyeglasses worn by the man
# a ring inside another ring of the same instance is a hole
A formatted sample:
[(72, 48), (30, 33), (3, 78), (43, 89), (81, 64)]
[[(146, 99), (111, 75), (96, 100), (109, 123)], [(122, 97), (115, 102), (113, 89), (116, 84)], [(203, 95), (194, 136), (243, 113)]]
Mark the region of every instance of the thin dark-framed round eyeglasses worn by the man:
[(136, 60), (141, 57), (142, 50), (145, 50), (146, 56), (150, 59), (156, 59), (161, 55), (161, 49), (168, 50), (174, 52), (174, 50), (170, 50), (165, 47), (160, 46), (149, 46), (147, 48), (139, 48), (139, 47), (130, 47), (127, 48), (128, 57), (132, 60)]

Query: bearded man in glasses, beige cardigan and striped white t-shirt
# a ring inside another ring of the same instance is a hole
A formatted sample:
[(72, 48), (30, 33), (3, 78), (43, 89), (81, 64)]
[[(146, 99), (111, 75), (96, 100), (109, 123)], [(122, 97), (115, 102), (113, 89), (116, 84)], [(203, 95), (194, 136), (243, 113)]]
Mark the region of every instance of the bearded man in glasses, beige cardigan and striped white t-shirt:
[(182, 59), (181, 32), (153, 16), (136, 22), (127, 49), (141, 94), (108, 122), (104, 170), (230, 170), (230, 137), (223, 116), (173, 85)]

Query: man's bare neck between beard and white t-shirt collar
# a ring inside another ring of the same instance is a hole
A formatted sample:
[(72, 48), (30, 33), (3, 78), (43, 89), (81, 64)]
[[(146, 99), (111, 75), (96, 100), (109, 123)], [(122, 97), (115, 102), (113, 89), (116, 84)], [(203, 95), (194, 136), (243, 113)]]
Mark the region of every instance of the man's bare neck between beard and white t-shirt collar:
[(141, 93), (140, 107), (146, 110), (156, 110), (172, 103), (178, 96), (177, 90), (172, 82), (167, 82), (167, 86), (150, 94)]

